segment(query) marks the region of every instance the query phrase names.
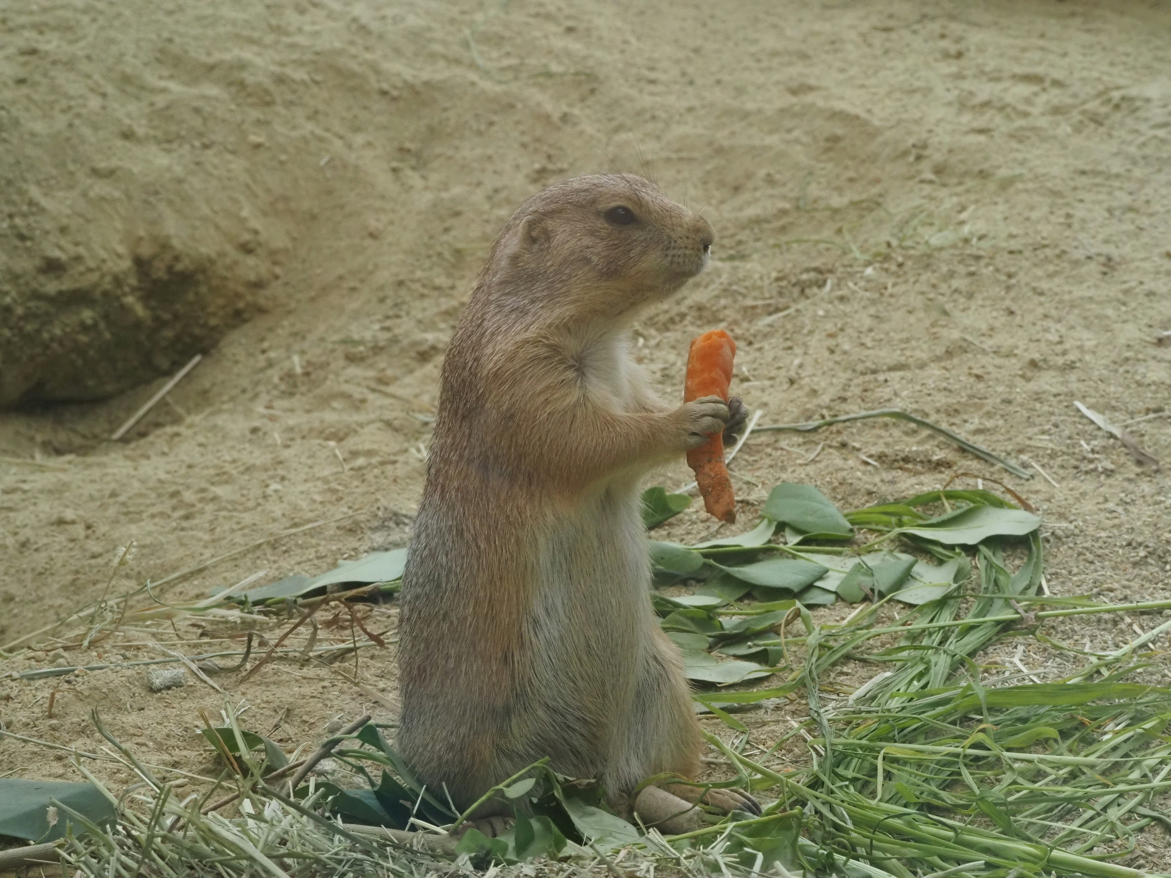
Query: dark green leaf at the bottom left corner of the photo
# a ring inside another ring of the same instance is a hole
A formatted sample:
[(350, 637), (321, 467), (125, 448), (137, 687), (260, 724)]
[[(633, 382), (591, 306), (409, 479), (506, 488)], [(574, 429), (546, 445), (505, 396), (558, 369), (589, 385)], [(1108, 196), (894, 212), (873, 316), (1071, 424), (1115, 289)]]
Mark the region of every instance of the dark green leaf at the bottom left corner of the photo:
[[(8, 761), (11, 759), (9, 753), (6, 762), (15, 768), (18, 763)], [(64, 837), (67, 823), (75, 835), (82, 835), (84, 829), (64, 814), (59, 814), (57, 822), (49, 824), (49, 807), (54, 802), (71, 808), (97, 825), (109, 825), (116, 818), (114, 803), (93, 783), (0, 777), (0, 836), (55, 842)]]

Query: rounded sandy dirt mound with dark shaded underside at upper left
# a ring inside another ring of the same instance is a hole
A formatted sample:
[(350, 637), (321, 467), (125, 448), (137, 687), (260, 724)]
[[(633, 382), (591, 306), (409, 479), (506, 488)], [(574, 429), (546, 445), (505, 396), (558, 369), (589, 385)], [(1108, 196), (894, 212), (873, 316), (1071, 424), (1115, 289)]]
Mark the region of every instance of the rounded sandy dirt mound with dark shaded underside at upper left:
[(0, 406), (101, 399), (174, 369), (256, 310), (288, 247), (238, 95), (128, 52), (133, 13), (87, 18), (6, 21)]

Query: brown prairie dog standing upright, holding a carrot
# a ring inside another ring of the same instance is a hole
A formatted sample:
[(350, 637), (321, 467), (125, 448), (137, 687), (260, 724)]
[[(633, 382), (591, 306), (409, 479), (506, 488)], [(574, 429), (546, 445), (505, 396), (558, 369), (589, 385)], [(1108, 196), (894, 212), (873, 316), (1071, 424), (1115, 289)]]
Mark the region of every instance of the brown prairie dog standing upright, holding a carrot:
[[(459, 808), (542, 756), (600, 777), (619, 812), (643, 780), (698, 769), (682, 658), (651, 608), (639, 480), (732, 412), (659, 402), (628, 330), (712, 241), (705, 219), (619, 174), (533, 196), (492, 246), (443, 364), (399, 616), (398, 746)], [(735, 790), (707, 801), (759, 811)]]

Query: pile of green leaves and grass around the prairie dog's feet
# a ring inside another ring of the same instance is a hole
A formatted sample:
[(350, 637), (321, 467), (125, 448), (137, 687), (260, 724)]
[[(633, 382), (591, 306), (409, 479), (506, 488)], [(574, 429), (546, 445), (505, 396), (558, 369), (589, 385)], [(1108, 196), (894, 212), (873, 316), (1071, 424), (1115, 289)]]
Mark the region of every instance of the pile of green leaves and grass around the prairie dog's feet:
[[(650, 489), (648, 527), (687, 503)], [(155, 783), (157, 796), (137, 796), (149, 821), (128, 810), (130, 829), (70, 836), (63, 856), (94, 876), (124, 866), (137, 873), (148, 855), (162, 873), (189, 873), (197, 862), (189, 853), (204, 849), (204, 862), (222, 874), (251, 874), (244, 866), (225, 871), (237, 860), (274, 874), (286, 874), (276, 863), (288, 874), (327, 863), (355, 874), (419, 873), (416, 860), (402, 859), (417, 852), (355, 835), (365, 824), (415, 830), (410, 837), (467, 855), (452, 873), (468, 873), (470, 863), (511, 870), (549, 858), (644, 876), (667, 869), (753, 878), (1142, 878), (1148, 873), (1119, 860), (1136, 853), (1144, 829), (1171, 826), (1159, 807), (1171, 793), (1171, 691), (1132, 680), (1148, 666), (1142, 650), (1171, 620), (1096, 653), (1036, 629), (1049, 617), (1167, 602), (1110, 606), (1038, 595), (1039, 526), (1030, 509), (986, 491), (936, 491), (842, 514), (815, 488), (782, 483), (744, 534), (650, 543), (659, 584), (694, 583), (671, 596), (656, 591), (653, 603), (684, 651), (697, 709), (732, 730), (731, 742), (705, 732), (737, 775), (712, 786), (752, 789), (766, 805), (759, 817), (712, 812), (703, 829), (664, 837), (608, 811), (595, 782), (560, 776), (542, 760), (485, 794), (508, 805), (513, 829), (499, 838), (471, 830), (457, 846), (444, 834), (472, 809), (459, 814), (443, 790), (425, 789), (379, 727), (343, 735), (333, 754), (365, 787), (310, 777), (287, 796), (265, 781), (286, 763), (280, 748), (232, 719), (205, 736), (239, 790), (242, 818), (203, 815), (201, 802), (167, 800)], [(350, 578), (355, 571), (365, 578)], [(400, 572), (402, 555), (383, 554), (314, 587), (367, 582), (393, 592)], [(311, 594), (304, 587), (313, 581), (302, 579), (266, 587), (255, 601), (248, 592), (233, 597), (256, 605), (296, 601)], [(809, 610), (837, 601), (858, 606), (833, 623)], [(1061, 609), (1026, 611), (1043, 604)], [(975, 658), (1006, 636), (1033, 636), (1084, 664), (1046, 682), (1027, 673), (988, 679)], [(826, 681), (847, 663), (870, 672), (852, 692)], [(746, 713), (762, 702), (792, 712), (802, 695), (792, 730), (771, 723), (771, 745), (752, 740)], [(803, 759), (786, 754), (797, 768), (781, 759), (792, 741), (804, 748)], [(150, 783), (149, 773), (143, 777)], [(171, 829), (158, 829), (162, 815)], [(444, 867), (432, 857), (425, 869)]]

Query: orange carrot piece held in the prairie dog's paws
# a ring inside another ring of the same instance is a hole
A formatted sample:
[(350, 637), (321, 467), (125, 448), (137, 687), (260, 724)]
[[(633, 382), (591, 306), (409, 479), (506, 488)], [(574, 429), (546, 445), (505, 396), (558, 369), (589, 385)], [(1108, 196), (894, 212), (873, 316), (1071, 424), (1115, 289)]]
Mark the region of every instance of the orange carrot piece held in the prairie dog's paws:
[[(690, 403), (703, 397), (728, 398), (732, 382), (732, 358), (735, 342), (723, 329), (713, 329), (693, 338), (687, 352), (687, 380), (683, 399)], [(687, 452), (687, 466), (696, 471), (696, 483), (708, 515), (735, 522), (735, 495), (732, 479), (724, 466), (724, 437), (713, 433), (706, 443)]]

